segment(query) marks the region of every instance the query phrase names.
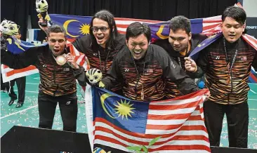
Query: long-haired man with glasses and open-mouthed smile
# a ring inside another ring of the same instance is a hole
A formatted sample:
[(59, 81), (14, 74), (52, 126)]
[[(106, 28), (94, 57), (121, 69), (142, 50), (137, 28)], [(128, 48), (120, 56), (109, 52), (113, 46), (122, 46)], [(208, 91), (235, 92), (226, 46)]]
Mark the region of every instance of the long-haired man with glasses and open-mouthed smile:
[[(90, 27), (90, 35), (81, 36), (72, 44), (79, 52), (86, 55), (91, 68), (100, 69), (103, 76), (106, 76), (113, 58), (126, 45), (125, 36), (118, 33), (114, 16), (109, 11), (103, 10), (95, 13)], [(41, 27), (41, 29), (45, 31), (47, 27)], [(118, 85), (114, 86), (112, 91), (121, 94), (120, 88)]]

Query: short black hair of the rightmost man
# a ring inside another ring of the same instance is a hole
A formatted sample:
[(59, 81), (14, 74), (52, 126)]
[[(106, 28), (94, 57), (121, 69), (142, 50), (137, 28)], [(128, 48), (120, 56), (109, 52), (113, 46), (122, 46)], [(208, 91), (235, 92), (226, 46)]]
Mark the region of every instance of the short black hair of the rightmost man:
[(229, 6), (228, 8), (225, 8), (225, 11), (221, 16), (222, 21), (224, 22), (227, 17), (236, 20), (241, 25), (244, 25), (244, 22), (246, 21), (246, 13), (244, 9), (239, 8), (238, 6)]

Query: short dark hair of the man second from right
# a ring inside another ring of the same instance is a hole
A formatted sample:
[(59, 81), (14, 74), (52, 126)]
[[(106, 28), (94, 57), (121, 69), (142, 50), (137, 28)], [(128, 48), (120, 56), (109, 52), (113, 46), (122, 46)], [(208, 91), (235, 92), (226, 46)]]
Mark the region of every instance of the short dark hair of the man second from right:
[(183, 29), (189, 35), (191, 32), (191, 22), (188, 18), (183, 15), (171, 18), (169, 22), (169, 29), (176, 32), (178, 29)]

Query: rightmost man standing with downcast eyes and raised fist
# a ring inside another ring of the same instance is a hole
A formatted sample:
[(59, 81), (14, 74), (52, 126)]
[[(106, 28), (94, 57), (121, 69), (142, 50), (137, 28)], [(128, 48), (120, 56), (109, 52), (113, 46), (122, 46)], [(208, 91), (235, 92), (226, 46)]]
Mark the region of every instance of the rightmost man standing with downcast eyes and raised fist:
[(257, 69), (257, 54), (241, 37), (246, 27), (246, 13), (242, 8), (226, 8), (222, 21), (223, 36), (200, 53), (198, 66), (195, 61), (185, 58), (185, 68), (195, 77), (206, 74), (211, 97), (204, 102), (204, 118), (211, 145), (220, 145), (226, 114), (229, 147), (246, 148), (249, 124), (247, 83), (251, 66)]

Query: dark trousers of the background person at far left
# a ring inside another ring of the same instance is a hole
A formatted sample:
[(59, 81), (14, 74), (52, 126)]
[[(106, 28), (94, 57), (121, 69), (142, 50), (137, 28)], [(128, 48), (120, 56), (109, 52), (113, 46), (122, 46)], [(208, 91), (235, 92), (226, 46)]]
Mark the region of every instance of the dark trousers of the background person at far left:
[[(18, 88), (18, 103), (24, 103), (25, 100), (25, 88), (26, 88), (26, 76), (11, 80), (10, 83), (6, 83), (6, 89), (8, 91), (8, 95), (12, 100), (17, 99), (16, 93), (13, 91), (13, 86), (15, 85), (15, 81)], [(10, 92), (9, 92), (10, 90)]]

